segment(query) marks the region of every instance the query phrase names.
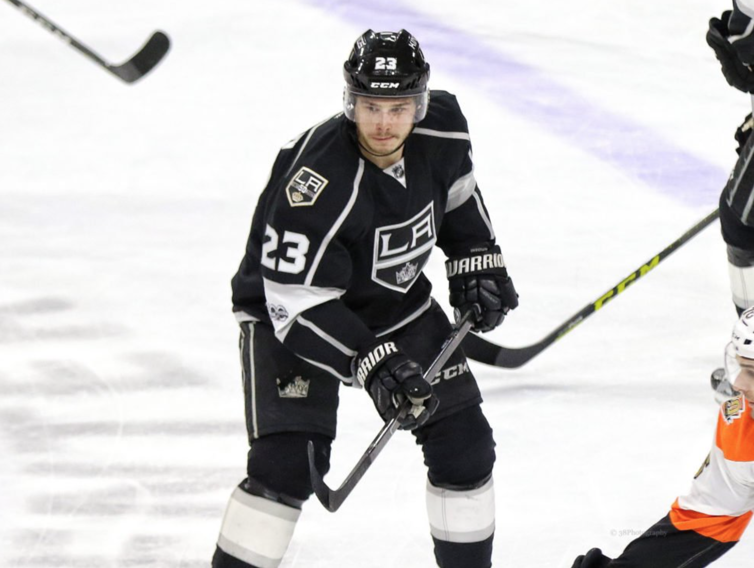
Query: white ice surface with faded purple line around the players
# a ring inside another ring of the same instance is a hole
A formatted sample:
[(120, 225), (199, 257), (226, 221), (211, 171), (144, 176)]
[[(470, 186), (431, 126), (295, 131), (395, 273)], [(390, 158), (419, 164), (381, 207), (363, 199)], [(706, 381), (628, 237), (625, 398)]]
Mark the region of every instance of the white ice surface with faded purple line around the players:
[[(367, 27), (406, 27), (458, 96), (531, 344), (716, 200), (749, 107), (706, 46), (729, 0), (35, 0), (127, 86), (0, 2), (0, 566), (209, 566), (246, 434), (229, 280), (277, 149), (340, 108)], [(429, 268), (446, 305), (440, 252)], [(474, 365), (495, 429), (495, 566), (619, 554), (706, 456), (735, 320), (716, 222), (516, 371)], [(337, 485), (379, 430), (342, 389)], [(399, 432), (284, 568), (431, 568)], [(719, 561), (749, 568), (754, 535)]]

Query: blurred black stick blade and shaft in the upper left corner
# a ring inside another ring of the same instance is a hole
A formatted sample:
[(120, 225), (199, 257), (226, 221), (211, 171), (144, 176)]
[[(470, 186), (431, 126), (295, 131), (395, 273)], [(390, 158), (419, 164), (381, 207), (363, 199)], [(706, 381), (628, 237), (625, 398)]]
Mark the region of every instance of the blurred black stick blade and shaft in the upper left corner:
[(111, 72), (117, 78), (126, 83), (133, 83), (133, 81), (142, 78), (144, 75), (152, 71), (152, 69), (160, 63), (165, 56), (165, 53), (167, 53), (167, 50), (170, 49), (170, 39), (167, 35), (165, 35), (164, 32), (155, 32), (152, 34), (152, 37), (147, 40), (146, 44), (144, 44), (143, 47), (130, 58), (130, 60), (127, 60), (120, 65), (112, 65), (103, 60), (103, 58), (97, 55), (97, 53), (90, 50), (89, 47), (82, 44), (81, 41), (78, 41), (78, 39), (74, 38), (68, 32), (60, 29), (60, 27), (39, 14), (38, 11), (35, 11), (29, 5), (20, 2), (20, 0), (8, 0), (8, 2), (32, 18), (32, 20), (41, 23), (41, 25), (48, 29), (49, 32), (57, 35), (57, 37), (65, 41), (66, 44), (69, 44), (74, 49), (84, 53), (84, 55), (94, 63), (97, 63), (97, 65), (106, 69), (106, 71)]

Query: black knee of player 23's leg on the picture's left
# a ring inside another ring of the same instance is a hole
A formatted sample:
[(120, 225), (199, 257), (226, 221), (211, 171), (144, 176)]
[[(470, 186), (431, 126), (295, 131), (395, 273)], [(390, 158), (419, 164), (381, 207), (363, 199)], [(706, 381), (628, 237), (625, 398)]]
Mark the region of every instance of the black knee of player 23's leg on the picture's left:
[(314, 443), (314, 463), (329, 470), (332, 438), (306, 432), (283, 432), (254, 440), (249, 450), (244, 490), (273, 501), (301, 507), (314, 493), (309, 478), (308, 442)]

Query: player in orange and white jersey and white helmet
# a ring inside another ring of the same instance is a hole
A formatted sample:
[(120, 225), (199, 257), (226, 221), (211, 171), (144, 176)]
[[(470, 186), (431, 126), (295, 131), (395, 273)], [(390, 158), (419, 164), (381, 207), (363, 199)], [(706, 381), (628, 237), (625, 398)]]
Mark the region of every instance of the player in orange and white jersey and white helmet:
[(754, 509), (754, 308), (734, 327), (725, 367), (740, 395), (721, 405), (712, 451), (691, 490), (615, 560), (593, 548), (572, 568), (700, 568), (738, 542)]

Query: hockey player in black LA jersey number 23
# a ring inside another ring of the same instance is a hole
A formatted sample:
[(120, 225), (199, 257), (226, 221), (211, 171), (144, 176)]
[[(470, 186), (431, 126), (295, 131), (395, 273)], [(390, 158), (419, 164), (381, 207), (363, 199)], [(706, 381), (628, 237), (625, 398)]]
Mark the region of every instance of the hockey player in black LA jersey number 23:
[(344, 111), (277, 155), (232, 280), (250, 451), (214, 568), (280, 563), (312, 493), (308, 441), (329, 468), (340, 383), (363, 386), (384, 420), (413, 403), (401, 425), (428, 467), (437, 563), (491, 565), (495, 442), (461, 351), (432, 385), (422, 378), (451, 330), (422, 269), (439, 246), (450, 304), (478, 306), (477, 331), (518, 300), (466, 120), (454, 96), (428, 90), (429, 71), (409, 32), (368, 30), (344, 65)]

